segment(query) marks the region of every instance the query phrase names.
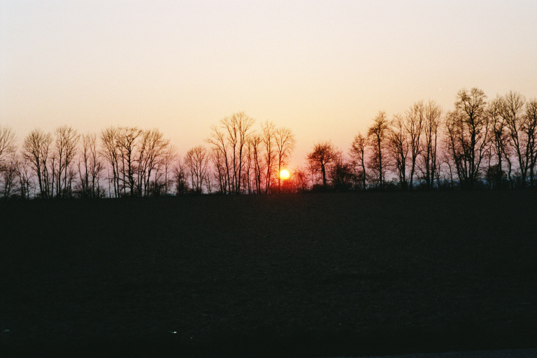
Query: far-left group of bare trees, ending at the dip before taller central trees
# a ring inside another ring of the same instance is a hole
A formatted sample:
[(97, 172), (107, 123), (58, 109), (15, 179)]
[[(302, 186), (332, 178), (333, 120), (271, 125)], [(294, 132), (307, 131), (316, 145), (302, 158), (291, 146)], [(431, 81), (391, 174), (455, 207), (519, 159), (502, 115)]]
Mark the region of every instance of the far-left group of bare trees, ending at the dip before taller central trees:
[(30, 132), (17, 150), (15, 134), (0, 128), (1, 194), (4, 198), (148, 196), (166, 192), (175, 159), (157, 129), (110, 127), (78, 134), (63, 126), (53, 134)]

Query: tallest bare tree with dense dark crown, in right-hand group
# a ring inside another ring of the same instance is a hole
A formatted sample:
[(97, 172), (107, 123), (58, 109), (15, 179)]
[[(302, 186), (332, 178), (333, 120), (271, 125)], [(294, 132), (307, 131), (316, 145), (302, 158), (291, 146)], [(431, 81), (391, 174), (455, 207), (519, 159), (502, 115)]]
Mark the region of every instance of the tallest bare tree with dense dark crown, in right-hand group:
[(489, 141), (485, 93), (478, 88), (460, 90), (455, 110), (447, 114), (447, 145), (461, 187), (473, 189), (480, 176)]

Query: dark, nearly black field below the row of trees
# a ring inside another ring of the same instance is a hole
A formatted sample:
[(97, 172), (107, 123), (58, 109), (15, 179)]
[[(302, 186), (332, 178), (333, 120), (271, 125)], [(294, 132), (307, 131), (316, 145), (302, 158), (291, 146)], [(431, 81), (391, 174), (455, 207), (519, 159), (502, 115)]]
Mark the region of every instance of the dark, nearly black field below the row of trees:
[(0, 355), (537, 347), (537, 192), (0, 203)]

